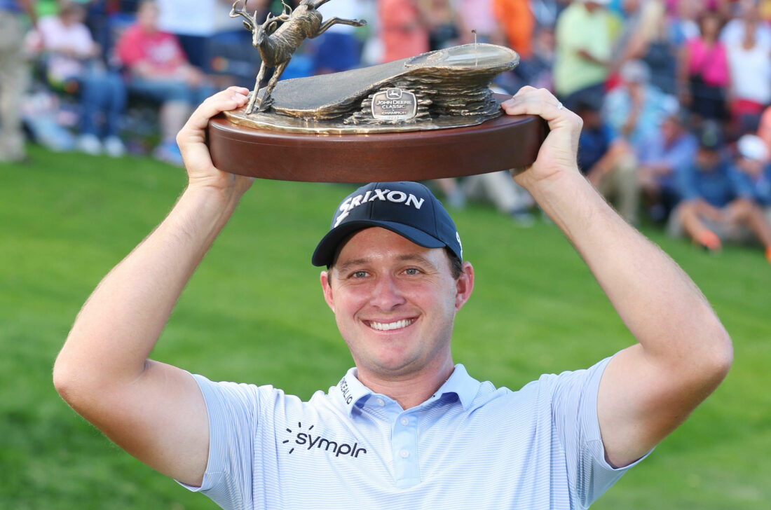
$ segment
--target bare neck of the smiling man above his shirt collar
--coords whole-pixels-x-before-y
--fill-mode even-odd
[[[453,359],[448,356],[438,366],[425,367],[415,374],[397,377],[376,374],[357,367],[357,378],[375,393],[394,399],[402,409],[409,409],[431,398],[454,370]]]

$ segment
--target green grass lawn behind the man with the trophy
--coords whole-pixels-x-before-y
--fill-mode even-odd
[[[182,170],[32,148],[31,163],[0,165],[0,177],[0,508],[214,508],[111,445],[51,383],[79,307],[167,213]],[[351,189],[255,183],[153,357],[302,398],[335,384],[352,361],[310,254]],[[453,216],[477,278],[456,320],[454,357],[475,377],[519,388],[633,341],[554,226],[518,229],[484,207]],[[759,250],[728,247],[713,257],[646,233],[712,302],[736,361],[692,418],[593,508],[768,508],[771,267]]]

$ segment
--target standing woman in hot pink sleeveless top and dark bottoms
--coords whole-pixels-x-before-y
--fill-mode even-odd
[[[701,119],[726,119],[729,86],[726,47],[718,39],[720,17],[704,12],[699,17],[699,36],[685,43],[680,55],[681,102]]]

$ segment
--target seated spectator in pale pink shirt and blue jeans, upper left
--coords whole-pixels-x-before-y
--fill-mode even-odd
[[[78,149],[120,157],[126,152],[120,139],[126,87],[120,75],[104,69],[99,45],[83,24],[85,17],[85,7],[65,0],[59,4],[58,15],[40,18],[38,34],[46,53],[46,74],[54,87],[65,92],[74,84],[80,111]]]

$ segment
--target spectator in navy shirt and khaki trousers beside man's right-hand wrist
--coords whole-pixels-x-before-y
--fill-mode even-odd
[[[637,221],[637,162],[629,144],[614,135],[604,122],[601,96],[585,93],[577,99],[575,112],[584,126],[578,139],[578,168],[606,198],[614,200],[626,220]]]

